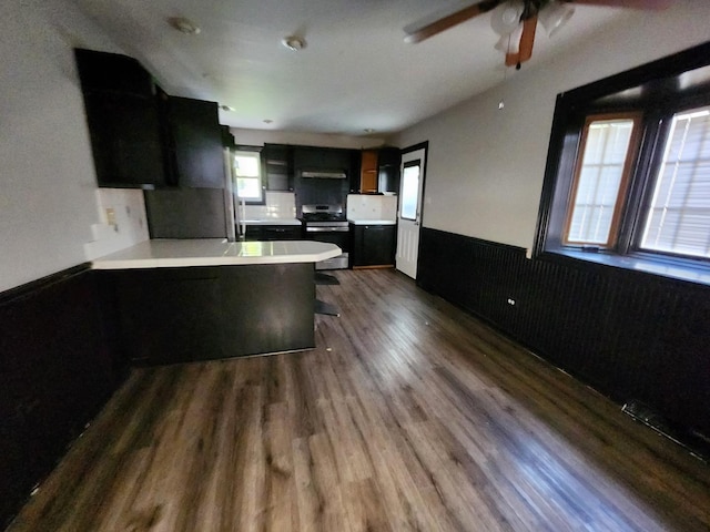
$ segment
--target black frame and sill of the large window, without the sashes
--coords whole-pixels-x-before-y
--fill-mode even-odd
[[[582,259],[710,284],[709,259],[640,247],[670,119],[683,110],[710,104],[707,75],[700,85],[683,84],[683,74],[697,69],[703,69],[702,74],[710,70],[710,43],[557,95],[532,250],[536,258]],[[639,147],[628,176],[628,193],[620,203],[616,242],[606,248],[566,243],[568,205],[574,198],[587,116],[639,111],[643,113]]]

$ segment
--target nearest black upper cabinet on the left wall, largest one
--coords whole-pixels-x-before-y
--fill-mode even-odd
[[[125,55],[74,52],[99,186],[164,185],[161,124],[150,73]]]

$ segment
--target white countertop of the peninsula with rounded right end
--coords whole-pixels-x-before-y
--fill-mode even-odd
[[[337,257],[335,244],[312,241],[154,239],[93,260],[94,269],[317,263]]]

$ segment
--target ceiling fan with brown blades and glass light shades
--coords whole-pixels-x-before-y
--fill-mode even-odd
[[[506,53],[506,66],[532,57],[538,21],[551,37],[574,13],[571,4],[631,9],[666,9],[673,0],[483,0],[418,27],[407,27],[406,42],[420,42],[479,14],[493,13],[491,27],[500,35],[496,49]]]

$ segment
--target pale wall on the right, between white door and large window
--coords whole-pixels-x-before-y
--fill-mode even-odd
[[[710,40],[710,1],[677,3],[635,11],[547,64],[534,57],[504,85],[396,135],[400,147],[429,141],[423,225],[531,248],[556,95]]]

